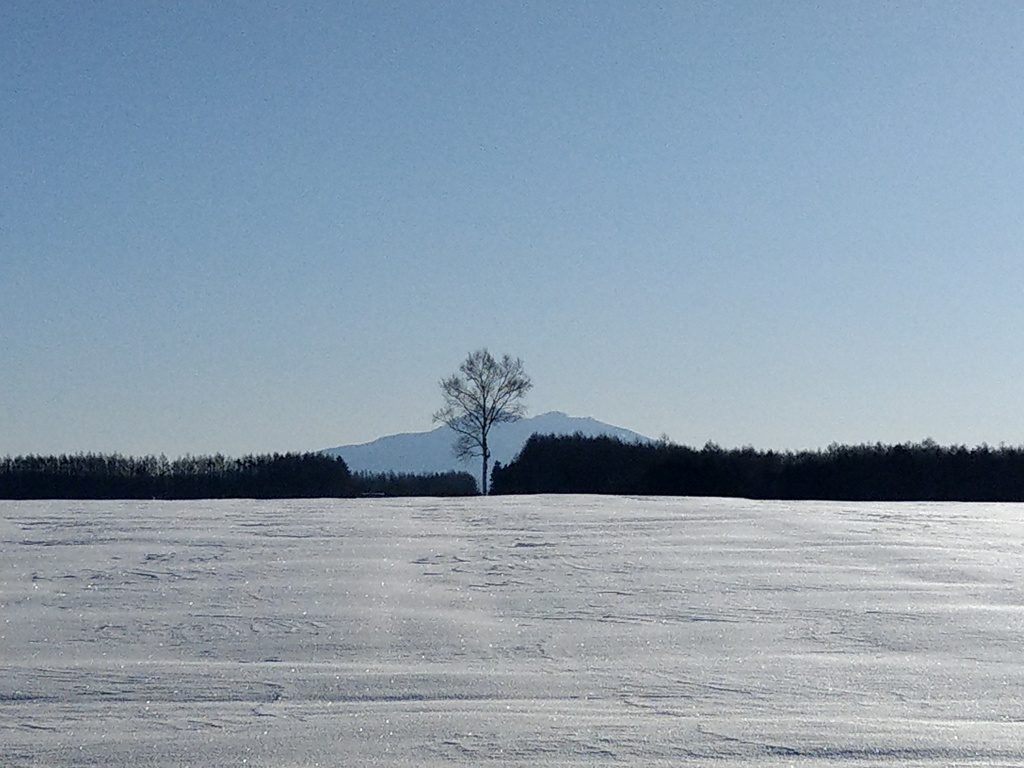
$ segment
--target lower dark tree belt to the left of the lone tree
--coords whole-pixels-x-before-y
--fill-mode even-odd
[[[470,496],[466,472],[349,472],[340,457],[315,453],[232,459],[119,454],[0,459],[0,499],[308,499],[356,496]]]

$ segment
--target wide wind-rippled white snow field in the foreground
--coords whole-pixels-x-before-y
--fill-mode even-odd
[[[0,502],[0,765],[1024,765],[1024,506]]]

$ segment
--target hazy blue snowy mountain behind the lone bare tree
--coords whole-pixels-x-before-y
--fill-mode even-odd
[[[588,437],[611,435],[627,442],[649,441],[649,437],[623,427],[588,417],[566,416],[551,411],[510,424],[497,424],[490,430],[490,464],[496,461],[508,464],[515,458],[531,434],[575,434]],[[429,432],[406,432],[380,437],[372,442],[356,445],[338,445],[321,453],[340,456],[353,472],[470,472],[480,473],[480,460],[460,462],[452,455],[455,432],[449,427],[437,427]]]

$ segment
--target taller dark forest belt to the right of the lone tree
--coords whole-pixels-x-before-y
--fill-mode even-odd
[[[496,465],[492,493],[1020,502],[1024,449],[925,440],[792,453],[534,435],[515,460]]]

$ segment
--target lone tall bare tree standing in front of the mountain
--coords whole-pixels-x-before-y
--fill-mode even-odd
[[[496,360],[486,349],[469,354],[459,373],[441,379],[444,408],[434,421],[446,424],[458,435],[453,446],[456,458],[482,459],[480,490],[487,495],[487,435],[495,424],[518,421],[526,413],[522,397],[534,386],[522,360],[505,355]]]

